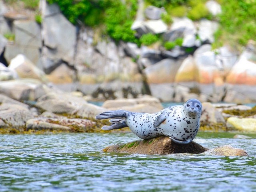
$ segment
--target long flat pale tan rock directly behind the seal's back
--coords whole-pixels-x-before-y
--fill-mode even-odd
[[[123,109],[131,112],[156,113],[163,109],[157,98],[107,100],[102,105],[107,110]]]

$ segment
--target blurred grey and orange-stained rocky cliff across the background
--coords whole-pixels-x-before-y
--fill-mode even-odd
[[[168,26],[161,19],[163,9],[144,9],[143,1],[138,6],[132,25],[137,36],[156,34],[166,42],[182,38],[181,44],[167,49],[157,43],[117,43],[99,38],[97,28],[74,26],[46,0],[40,1],[40,24],[33,13],[0,0],[0,80],[32,78],[102,100],[152,94],[163,102],[255,102],[255,42],[241,53],[228,45],[212,50],[217,21],[182,17]],[[215,1],[206,7],[213,15],[221,12]]]

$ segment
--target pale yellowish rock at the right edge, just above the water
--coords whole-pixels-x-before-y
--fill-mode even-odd
[[[228,128],[235,130],[255,132],[256,131],[256,119],[255,118],[237,118],[230,117],[227,119],[226,125]]]

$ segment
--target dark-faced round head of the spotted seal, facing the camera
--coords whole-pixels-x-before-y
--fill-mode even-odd
[[[185,112],[191,117],[200,117],[202,113],[202,104],[197,99],[190,99],[183,104]]]

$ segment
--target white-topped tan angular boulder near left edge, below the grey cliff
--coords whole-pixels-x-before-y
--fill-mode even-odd
[[[37,68],[23,54],[18,54],[13,58],[8,68],[15,70],[20,78],[32,78],[41,80],[42,82],[47,82],[45,73]]]

